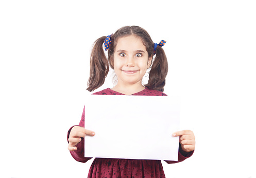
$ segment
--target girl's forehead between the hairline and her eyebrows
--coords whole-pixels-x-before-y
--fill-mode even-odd
[[[146,50],[146,46],[144,46],[140,37],[129,35],[117,40],[115,51],[117,50]]]

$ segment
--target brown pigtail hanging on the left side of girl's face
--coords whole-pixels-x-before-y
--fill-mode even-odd
[[[87,83],[89,92],[104,84],[109,72],[108,59],[103,50],[103,43],[107,37],[101,37],[94,42],[90,59],[90,77]]]

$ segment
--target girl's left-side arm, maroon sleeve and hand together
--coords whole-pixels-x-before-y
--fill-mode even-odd
[[[86,163],[91,157],[84,157],[84,136],[95,135],[94,132],[84,129],[84,108],[81,121],[78,126],[73,126],[67,132],[68,149],[72,157],[82,163]]]

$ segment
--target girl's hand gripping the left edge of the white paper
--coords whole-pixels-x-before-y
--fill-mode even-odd
[[[73,127],[70,131],[69,146],[67,149],[70,151],[77,150],[75,146],[82,140],[81,138],[84,138],[86,135],[94,136],[95,133],[80,126]]]

